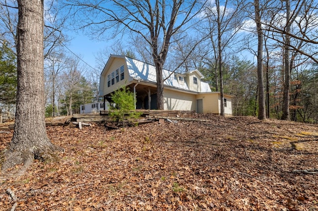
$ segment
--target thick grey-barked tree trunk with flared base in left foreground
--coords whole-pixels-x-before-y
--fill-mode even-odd
[[[51,158],[58,148],[47,137],[43,66],[43,0],[18,0],[17,100],[14,132],[2,170]]]

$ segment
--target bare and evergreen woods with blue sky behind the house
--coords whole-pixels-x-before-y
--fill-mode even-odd
[[[266,117],[318,122],[317,1],[180,0],[166,1],[164,5],[158,2],[45,2],[47,116],[70,115],[79,112],[80,104],[98,101],[99,75],[109,53],[152,64],[161,59],[160,65],[175,72],[199,69],[213,91],[236,96],[234,115],[259,116],[262,86],[257,80],[257,55],[262,53],[260,70]],[[17,12],[16,1],[1,0],[0,106],[10,112],[14,112],[16,94],[16,68],[12,67],[16,67]],[[171,20],[175,20],[172,26]],[[157,37],[149,30],[156,23],[161,24]],[[96,66],[91,67],[69,50],[70,30],[82,30],[93,39],[116,44],[96,52]],[[163,31],[171,37],[167,39]],[[167,45],[163,45],[165,42]],[[286,106],[288,118],[284,117]]]

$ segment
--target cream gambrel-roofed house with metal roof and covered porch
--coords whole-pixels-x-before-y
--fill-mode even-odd
[[[194,110],[198,113],[220,114],[220,92],[211,92],[201,80],[198,70],[174,73],[163,70],[164,110]],[[111,55],[101,72],[99,93],[104,102],[111,93],[128,86],[135,94],[137,109],[157,109],[157,79],[154,65],[124,56]],[[224,95],[225,114],[232,115],[232,95]],[[104,104],[105,105],[105,104]]]

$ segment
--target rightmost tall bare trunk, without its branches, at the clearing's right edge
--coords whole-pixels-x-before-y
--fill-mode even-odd
[[[286,34],[285,34],[285,47],[284,47],[284,65],[285,65],[285,82],[284,82],[284,94],[283,94],[283,106],[282,106],[282,120],[290,120],[289,113],[289,101],[290,101],[290,60],[289,60],[289,46],[290,46],[290,1],[286,0]]]

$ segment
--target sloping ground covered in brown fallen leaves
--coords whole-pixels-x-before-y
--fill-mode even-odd
[[[318,125],[198,118],[208,121],[47,127],[65,153],[0,181],[0,210],[318,210],[318,174],[297,171],[317,172]],[[0,150],[11,137],[0,133]]]

